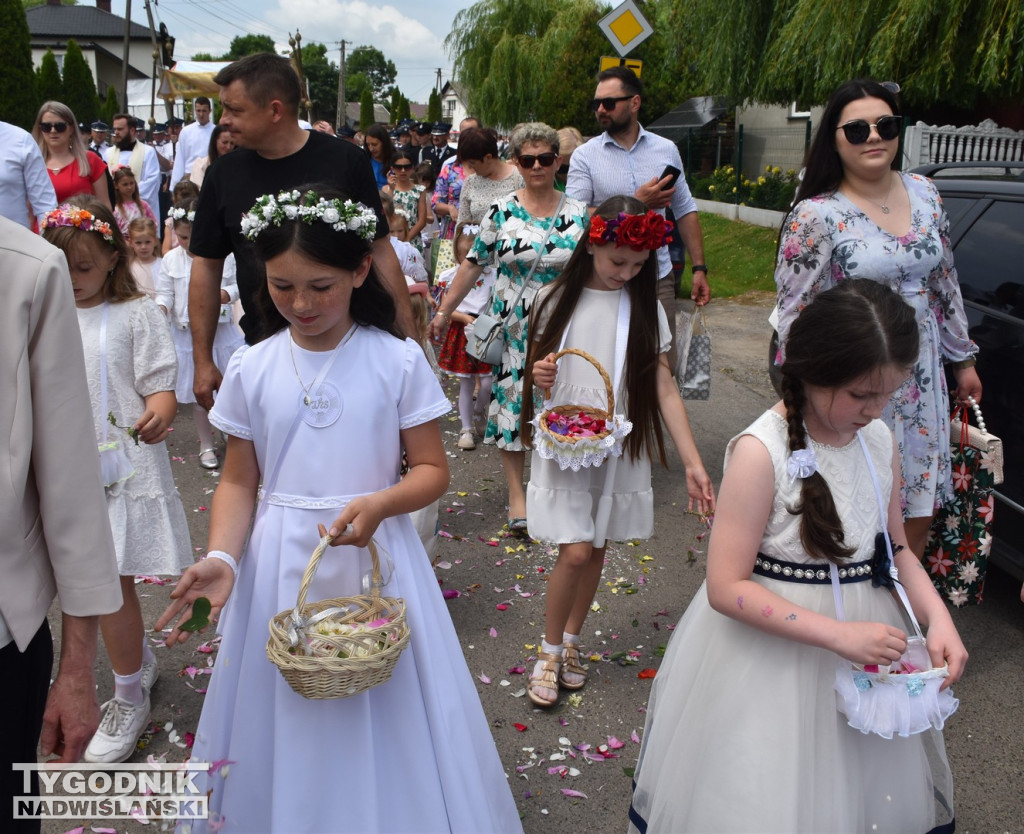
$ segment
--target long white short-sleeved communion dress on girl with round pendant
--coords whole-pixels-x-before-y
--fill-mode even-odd
[[[352,499],[395,485],[399,431],[451,410],[411,339],[358,328],[327,375],[341,413],[316,428],[295,420],[304,397],[287,331],[238,351],[210,414],[252,441],[270,494],[256,512],[220,619],[216,667],[193,761],[229,760],[202,790],[222,832],[521,831],[472,676],[437,579],[408,515],[375,539],[394,564],[385,596],[406,601],[412,639],[390,680],[338,700],[296,694],[266,657],[267,623],[296,602],[318,541]],[[293,346],[299,375],[315,378],[330,352]],[[313,391],[315,393],[315,391]],[[294,436],[276,475],[268,471]],[[369,551],[325,554],[308,601],[362,593]],[[199,824],[194,832],[215,830]]]

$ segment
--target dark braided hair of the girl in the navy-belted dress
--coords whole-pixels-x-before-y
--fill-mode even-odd
[[[876,281],[844,281],[817,295],[790,329],[782,366],[788,449],[807,447],[805,385],[838,388],[893,365],[909,369],[919,351],[913,308]],[[831,491],[820,472],[801,482],[800,541],[815,558],[840,561],[853,554]]]

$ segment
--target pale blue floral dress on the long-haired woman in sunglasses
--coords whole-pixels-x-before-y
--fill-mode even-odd
[[[949,395],[943,362],[977,352],[968,337],[964,299],[949,244],[949,220],[931,180],[900,174],[910,198],[910,226],[896,237],[880,228],[839,192],[801,201],[790,212],[775,265],[778,335],[785,340],[814,296],[846,279],[878,281],[916,312],[921,353],[910,377],[882,415],[903,463],[904,517],[931,515],[952,495]]]

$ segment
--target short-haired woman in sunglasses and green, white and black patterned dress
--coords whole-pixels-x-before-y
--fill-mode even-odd
[[[495,368],[483,442],[497,445],[501,451],[509,491],[509,530],[524,535],[526,453],[519,439],[519,413],[528,343],[526,319],[537,291],[561,274],[583,236],[587,206],[555,190],[559,157],[558,134],[553,128],[527,122],[513,131],[509,143],[524,185],[487,210],[476,243],[430,323],[430,335],[435,341],[443,338],[452,314],[484,267],[497,266],[489,311],[504,320],[505,350],[502,364]]]

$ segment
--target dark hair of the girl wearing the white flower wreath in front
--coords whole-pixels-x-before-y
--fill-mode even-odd
[[[301,198],[303,205],[315,203],[319,198],[349,199],[327,183],[300,185],[298,191],[303,195]],[[312,198],[308,196],[310,192],[313,194]],[[335,232],[331,225],[322,220],[307,223],[296,219],[284,220],[280,225],[271,224],[263,230],[257,236],[254,248],[256,256],[264,264],[270,258],[295,250],[325,266],[356,269],[373,250],[373,243],[364,240],[354,232]],[[256,291],[256,306],[263,320],[260,330],[261,340],[288,327],[287,320],[270,298],[265,275]],[[356,324],[376,327],[396,338],[402,338],[395,326],[394,299],[372,263],[362,286],[352,290],[348,311]]]

